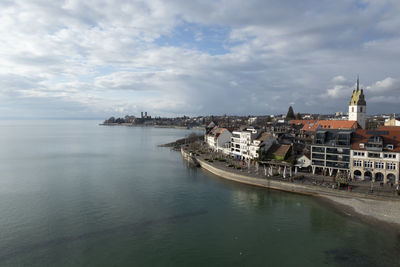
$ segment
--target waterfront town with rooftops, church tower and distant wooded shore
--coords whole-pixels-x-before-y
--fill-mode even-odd
[[[295,114],[289,107],[286,116],[163,119],[142,112],[140,118],[111,117],[104,124],[204,127],[206,147],[202,150],[212,157],[234,160],[231,165],[237,169],[268,166],[266,176],[286,178],[304,173],[330,178],[338,187],[359,182],[370,193],[377,189],[400,192],[399,118],[395,114],[368,117],[366,96],[358,79],[349,95],[347,116],[343,112]]]

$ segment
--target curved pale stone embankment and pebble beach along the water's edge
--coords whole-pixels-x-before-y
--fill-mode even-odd
[[[253,186],[320,197],[325,203],[334,205],[335,210],[347,216],[363,222],[379,224],[384,226],[383,228],[400,232],[400,200],[395,197],[385,198],[286,181],[255,178],[245,173],[236,173],[218,168],[215,164],[206,162],[201,158],[194,158],[184,149],[181,149],[181,153],[185,160],[194,161],[198,166],[221,178]]]

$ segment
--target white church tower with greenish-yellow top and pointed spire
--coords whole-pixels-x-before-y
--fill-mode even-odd
[[[365,102],[363,89],[360,89],[360,80],[357,77],[357,89],[353,90],[349,105],[349,121],[357,121],[361,128],[365,129],[366,112],[367,103]]]

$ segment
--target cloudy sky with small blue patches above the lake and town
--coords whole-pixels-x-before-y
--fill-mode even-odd
[[[400,113],[398,0],[1,0],[0,118]]]

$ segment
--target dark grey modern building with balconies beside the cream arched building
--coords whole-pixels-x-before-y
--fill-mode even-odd
[[[324,175],[350,171],[352,130],[317,130],[311,145],[311,167]]]

